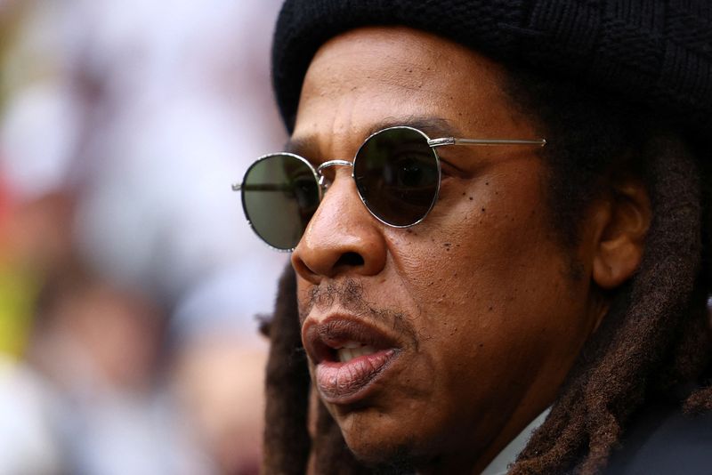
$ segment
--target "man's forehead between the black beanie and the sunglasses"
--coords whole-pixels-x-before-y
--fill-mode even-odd
[[[349,42],[362,47],[354,51]],[[435,49],[436,63],[423,60],[421,52],[430,58]],[[322,46],[312,60],[287,149],[312,157],[320,151],[348,155],[371,133],[394,125],[431,138],[532,135],[513,127],[505,74],[481,54],[429,33],[353,30]]]

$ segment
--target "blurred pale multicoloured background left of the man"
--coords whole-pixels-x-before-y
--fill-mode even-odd
[[[256,473],[279,0],[0,0],[0,475]]]

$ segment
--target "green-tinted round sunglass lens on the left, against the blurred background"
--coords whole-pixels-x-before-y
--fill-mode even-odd
[[[312,166],[295,155],[256,161],[242,181],[242,207],[257,235],[277,249],[294,249],[319,206]]]

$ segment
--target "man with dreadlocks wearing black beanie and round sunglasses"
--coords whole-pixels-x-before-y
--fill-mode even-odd
[[[708,470],[680,407],[712,408],[710,26],[702,0],[287,0],[289,151],[239,187],[293,251],[264,471],[492,472],[539,415],[514,473]]]

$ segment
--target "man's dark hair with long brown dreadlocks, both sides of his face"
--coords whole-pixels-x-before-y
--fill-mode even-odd
[[[526,71],[509,76],[505,90],[513,103],[538,117],[545,136],[555,138],[543,159],[550,219],[562,246],[576,245],[581,217],[593,200],[611,192],[611,178],[640,178],[651,197],[653,220],[639,270],[608,295],[608,315],[571,368],[546,422],[511,467],[516,474],[596,473],[644,401],[675,398],[688,413],[712,409],[705,379],[712,348],[712,173],[696,159],[703,149],[694,138],[643,107],[602,100]],[[313,438],[307,431],[310,387],[289,269],[270,337],[263,471],[303,473],[311,454],[318,473],[370,472],[354,460],[321,404],[311,415]],[[681,399],[677,390],[689,382],[695,389]]]

